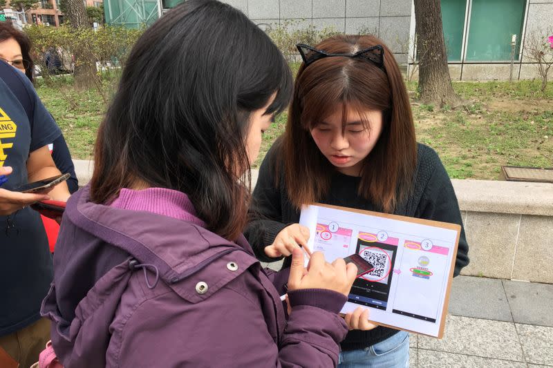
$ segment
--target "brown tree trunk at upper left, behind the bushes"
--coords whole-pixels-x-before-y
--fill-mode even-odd
[[[78,33],[79,28],[88,27],[88,17],[86,16],[86,9],[84,8],[84,1],[82,0],[66,0],[67,14],[66,16],[71,23],[71,28],[74,28]],[[75,42],[75,87],[87,89],[91,88],[94,84],[94,77],[96,73],[95,62],[86,47],[86,42]]]

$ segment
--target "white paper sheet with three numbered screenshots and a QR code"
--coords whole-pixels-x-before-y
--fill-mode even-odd
[[[355,280],[342,313],[362,305],[373,322],[438,337],[459,230],[316,205],[299,223],[328,262],[358,253],[375,267]]]

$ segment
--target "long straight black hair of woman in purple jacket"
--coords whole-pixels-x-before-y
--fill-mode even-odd
[[[189,196],[207,228],[234,240],[247,223],[250,113],[288,106],[292,75],[269,37],[240,11],[185,1],[133,47],[98,131],[91,200],[137,182]]]

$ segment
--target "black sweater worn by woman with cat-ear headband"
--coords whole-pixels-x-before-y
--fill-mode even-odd
[[[284,176],[281,175],[278,187],[274,185],[275,165],[281,165],[278,157],[279,144],[275,144],[263,159],[259,170],[259,179],[252,198],[252,221],[245,231],[257,258],[263,262],[274,262],[278,258],[268,258],[265,246],[272,244],[277,234],[299,221],[299,211],[294,209],[285,192]],[[359,177],[341,173],[332,174],[332,184],[326,197],[319,202],[368,211],[377,211],[375,205],[357,195]],[[418,144],[417,167],[411,196],[394,211],[397,215],[418,217],[427,220],[451,222],[461,225],[458,253],[453,275],[469,264],[469,246],[462,227],[461,213],[451,180],[445,171],[438,154],[432,148]],[[290,258],[284,262],[289,267]],[[397,333],[395,329],[377,327],[370,331],[353,330],[341,343],[344,351],[363,349],[376,344]]]

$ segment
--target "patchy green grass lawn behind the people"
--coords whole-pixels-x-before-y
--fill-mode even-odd
[[[413,101],[418,142],[440,154],[451,177],[497,179],[501,165],[553,166],[553,84],[545,93],[538,81],[455,82],[469,103],[438,108]],[[412,95],[417,84],[408,83]],[[95,90],[76,93],[71,81],[41,85],[39,95],[62,128],[74,158],[88,159],[105,105]],[[284,130],[282,114],[263,137],[261,157]]]

